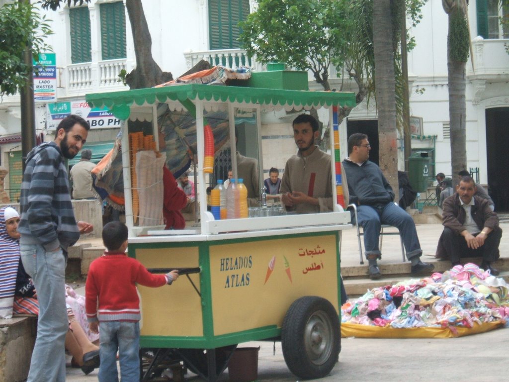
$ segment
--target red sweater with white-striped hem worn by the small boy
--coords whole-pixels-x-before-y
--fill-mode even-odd
[[[139,321],[136,283],[160,287],[171,283],[166,275],[153,275],[125,253],[104,252],[92,261],[85,284],[85,308],[89,322]]]

